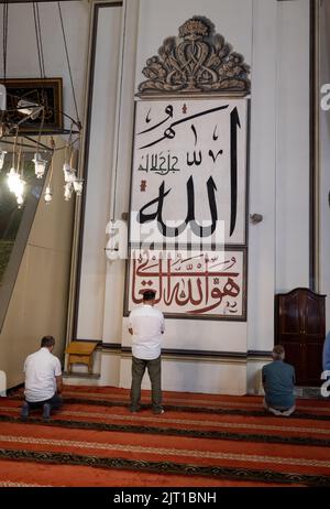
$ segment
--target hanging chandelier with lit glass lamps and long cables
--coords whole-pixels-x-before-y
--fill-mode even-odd
[[[34,165],[36,178],[45,178],[47,182],[44,185],[44,201],[50,204],[53,199],[53,159],[56,151],[64,151],[63,164],[63,195],[65,201],[69,201],[75,194],[80,196],[82,193],[82,178],[78,175],[78,158],[77,145],[80,140],[81,123],[78,116],[77,101],[72,76],[72,67],[67,50],[67,40],[64,29],[64,20],[62,14],[61,2],[57,3],[58,21],[62,28],[64,50],[66,63],[70,78],[72,95],[75,105],[76,118],[68,116],[59,108],[59,105],[52,106],[47,101],[43,83],[47,82],[45,76],[43,40],[41,31],[41,20],[37,2],[31,2],[31,15],[33,17],[35,26],[35,39],[37,47],[37,57],[40,66],[41,84],[37,100],[30,98],[29,95],[20,95],[20,88],[14,95],[9,91],[7,78],[7,41],[8,41],[8,20],[10,17],[9,3],[2,4],[2,24],[3,24],[3,78],[0,78],[0,172],[4,164],[9,167],[7,173],[7,183],[11,193],[14,194],[18,207],[21,208],[25,198],[25,178],[24,165],[26,164],[26,149],[30,154],[31,163]],[[69,124],[69,129],[46,128],[46,115],[53,111],[56,118],[65,118]],[[29,126],[29,129],[26,129]],[[35,127],[34,127],[35,126]],[[61,134],[64,138],[64,143],[55,142],[55,136]],[[8,147],[12,147],[9,153]],[[8,149],[8,150],[7,150]],[[33,154],[33,155],[31,155]]]

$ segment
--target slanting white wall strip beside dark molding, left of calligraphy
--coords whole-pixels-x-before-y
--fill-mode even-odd
[[[90,134],[87,140],[88,178],[77,326],[79,339],[101,339],[103,336],[106,225],[110,218],[121,15],[121,7],[99,9],[94,88],[88,119]]]

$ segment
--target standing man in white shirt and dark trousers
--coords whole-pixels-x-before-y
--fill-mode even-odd
[[[143,305],[130,314],[129,332],[132,343],[132,386],[131,412],[140,410],[141,382],[147,368],[152,386],[152,404],[154,414],[164,413],[162,407],[161,381],[161,344],[165,331],[164,316],[154,307],[155,292],[147,290],[143,294]]]

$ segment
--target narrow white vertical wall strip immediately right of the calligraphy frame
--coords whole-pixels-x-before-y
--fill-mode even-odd
[[[267,350],[274,337],[277,2],[253,1],[248,349]]]

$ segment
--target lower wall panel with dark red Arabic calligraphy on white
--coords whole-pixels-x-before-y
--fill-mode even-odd
[[[226,252],[172,253],[132,250],[129,261],[128,312],[142,303],[146,290],[169,316],[187,318],[246,318],[246,259],[244,248]]]

